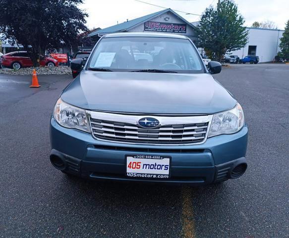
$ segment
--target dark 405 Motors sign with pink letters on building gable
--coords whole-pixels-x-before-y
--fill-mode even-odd
[[[145,31],[160,31],[160,32],[174,32],[186,33],[186,24],[147,21],[144,23]]]

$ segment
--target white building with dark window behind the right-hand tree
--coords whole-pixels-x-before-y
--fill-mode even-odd
[[[249,35],[246,46],[229,54],[236,55],[240,59],[245,56],[258,56],[259,62],[273,61],[280,52],[280,38],[285,31],[251,27],[247,27],[247,30]]]

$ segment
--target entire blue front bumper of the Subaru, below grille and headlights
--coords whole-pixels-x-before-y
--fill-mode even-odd
[[[96,140],[91,134],[60,126],[51,119],[52,154],[61,157],[65,172],[90,179],[208,184],[231,178],[246,165],[247,126],[231,135],[208,138],[199,145],[150,146]],[[171,156],[170,179],[125,176],[125,155]]]

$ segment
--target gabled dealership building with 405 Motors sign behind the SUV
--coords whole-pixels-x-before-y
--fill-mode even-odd
[[[93,31],[88,36],[100,37],[117,32],[163,32],[185,35],[194,41],[196,39],[195,30],[195,26],[168,8],[98,31]]]

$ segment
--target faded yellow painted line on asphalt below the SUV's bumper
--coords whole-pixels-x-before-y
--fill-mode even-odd
[[[195,238],[195,224],[193,220],[193,203],[191,189],[189,187],[182,187],[181,194],[183,238]]]

